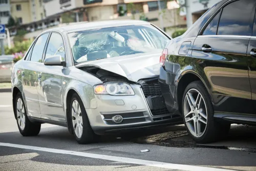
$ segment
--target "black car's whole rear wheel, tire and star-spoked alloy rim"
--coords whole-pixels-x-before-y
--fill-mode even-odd
[[[188,134],[197,143],[224,138],[230,128],[229,123],[215,121],[210,96],[201,81],[191,82],[186,87],[182,98],[182,117]]]

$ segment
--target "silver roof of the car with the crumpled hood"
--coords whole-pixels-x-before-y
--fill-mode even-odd
[[[69,26],[63,26],[58,28],[53,28],[46,30],[47,31],[67,31],[68,33],[76,32],[76,31],[83,31],[83,30],[91,30],[91,29],[100,29],[106,27],[117,27],[117,26],[129,26],[129,25],[145,25],[150,23],[142,21],[142,20],[106,20],[106,21],[99,21],[99,22],[81,22]]]

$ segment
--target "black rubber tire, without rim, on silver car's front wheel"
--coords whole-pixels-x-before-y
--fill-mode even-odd
[[[82,115],[82,135],[80,138],[78,138],[75,134],[75,130],[74,130],[74,126],[73,126],[73,122],[72,122],[72,104],[74,102],[74,100],[78,101],[78,104],[80,106],[81,109],[81,115]],[[82,100],[80,99],[80,97],[77,94],[74,94],[71,98],[70,101],[70,119],[71,119],[71,126],[72,126],[72,132],[76,138],[76,141],[79,144],[89,144],[89,143],[93,143],[95,142],[95,140],[97,139],[96,134],[94,133],[94,131],[92,130],[91,124],[89,122],[87,113],[86,113],[86,109],[84,109]]]

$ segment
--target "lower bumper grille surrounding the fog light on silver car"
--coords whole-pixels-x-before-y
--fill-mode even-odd
[[[123,118],[121,123],[116,123],[112,120],[112,117],[120,115]],[[102,114],[104,117],[103,120],[106,124],[114,125],[114,124],[129,124],[129,123],[138,123],[138,122],[145,122],[146,117],[144,116],[143,112],[134,112],[134,113],[124,113],[124,114]]]

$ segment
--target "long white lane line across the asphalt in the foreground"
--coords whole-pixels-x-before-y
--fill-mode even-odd
[[[83,152],[67,151],[67,150],[63,150],[63,149],[45,148],[45,147],[11,144],[11,143],[3,143],[3,142],[0,142],[0,146],[31,149],[31,150],[35,150],[35,151],[41,151],[41,152],[81,156],[81,157],[88,157],[88,158],[94,158],[94,159],[110,160],[110,161],[116,161],[116,162],[132,163],[132,164],[147,165],[147,166],[169,168],[169,169],[180,169],[180,170],[189,170],[189,171],[201,171],[201,170],[202,171],[204,171],[204,170],[207,170],[207,171],[224,171],[224,170],[231,171],[230,169],[202,167],[202,166],[185,165],[185,164],[164,163],[164,162],[158,162],[158,161],[141,160],[141,159],[116,157],[116,156],[107,156],[107,155],[99,155],[99,154],[93,154],[93,153],[83,153]]]

